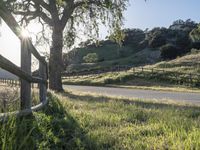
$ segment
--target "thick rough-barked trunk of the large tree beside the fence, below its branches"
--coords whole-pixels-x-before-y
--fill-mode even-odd
[[[57,92],[63,91],[61,79],[63,71],[62,48],[63,31],[59,27],[54,27],[49,60],[49,88]]]

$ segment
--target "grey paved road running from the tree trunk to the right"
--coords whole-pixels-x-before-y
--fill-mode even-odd
[[[200,93],[184,93],[184,92],[166,92],[153,90],[138,90],[112,87],[94,87],[94,86],[77,86],[64,85],[65,89],[77,90],[80,92],[91,92],[102,94],[105,96],[122,96],[127,98],[139,99],[157,99],[157,100],[175,100],[179,102],[189,102],[200,104]]]

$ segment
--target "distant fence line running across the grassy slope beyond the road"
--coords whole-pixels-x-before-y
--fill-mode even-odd
[[[80,77],[80,76],[94,76],[107,72],[129,72],[129,77],[141,77],[149,79],[159,79],[177,84],[187,84],[190,86],[200,87],[200,74],[173,72],[167,69],[159,68],[145,68],[133,66],[115,66],[106,68],[104,70],[84,70],[81,72],[68,72],[63,73],[63,77]]]

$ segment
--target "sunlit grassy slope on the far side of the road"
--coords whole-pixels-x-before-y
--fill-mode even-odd
[[[144,66],[145,69],[154,68],[152,75],[151,70],[148,72],[140,71],[133,72],[132,69],[120,72],[108,72],[99,75],[89,75],[81,77],[64,78],[64,84],[79,84],[79,85],[110,85],[114,84],[143,89],[158,89],[158,90],[182,90],[185,91],[188,87],[199,85],[194,81],[193,85],[184,83],[181,79],[176,80],[175,75],[178,73],[199,74],[200,73],[200,53],[190,54],[172,61],[163,61],[154,65]],[[156,72],[155,70],[165,70],[165,72]],[[173,74],[169,76],[168,72]],[[182,76],[184,77],[184,76]],[[187,78],[186,78],[187,79]],[[188,80],[188,79],[187,79]],[[191,90],[195,90],[192,88]]]

